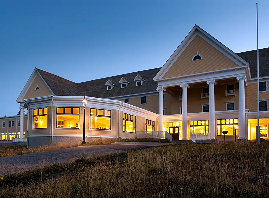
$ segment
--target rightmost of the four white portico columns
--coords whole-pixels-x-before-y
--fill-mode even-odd
[[[238,139],[246,139],[245,135],[245,80],[246,76],[238,76]]]

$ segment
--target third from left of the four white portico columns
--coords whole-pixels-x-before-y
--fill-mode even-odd
[[[206,81],[209,85],[209,133],[211,139],[215,138],[215,91],[214,85],[216,84],[215,80]]]

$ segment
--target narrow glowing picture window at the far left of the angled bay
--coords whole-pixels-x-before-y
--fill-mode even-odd
[[[33,129],[47,128],[48,108],[33,109]]]

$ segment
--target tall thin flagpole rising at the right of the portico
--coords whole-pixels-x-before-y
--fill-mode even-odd
[[[256,128],[256,143],[260,144],[260,97],[259,97],[259,44],[258,44],[258,3],[256,3],[257,13],[257,128]]]

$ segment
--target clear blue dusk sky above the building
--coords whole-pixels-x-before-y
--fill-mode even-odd
[[[269,1],[258,1],[269,47]],[[256,1],[1,1],[0,117],[35,67],[74,82],[162,67],[195,25],[234,52],[256,49]]]

